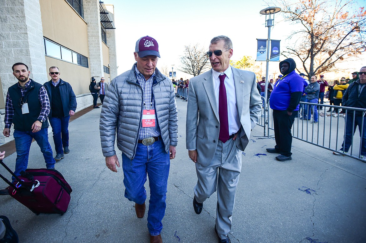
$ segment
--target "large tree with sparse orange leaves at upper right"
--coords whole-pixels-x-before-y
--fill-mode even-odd
[[[336,62],[355,58],[366,48],[366,11],[355,0],[283,1],[285,20],[298,23],[285,57],[298,57],[308,77],[332,71]],[[299,71],[299,69],[298,69]]]

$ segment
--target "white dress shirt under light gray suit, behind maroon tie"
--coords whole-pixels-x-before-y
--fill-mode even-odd
[[[226,69],[223,73],[226,74],[224,83],[226,89],[226,97],[228,100],[229,135],[231,135],[238,132],[241,124],[238,113],[238,106],[236,105],[234,77],[231,67],[229,66],[228,69]],[[212,69],[213,88],[216,96],[217,107],[219,107],[220,74],[220,72],[216,72]]]

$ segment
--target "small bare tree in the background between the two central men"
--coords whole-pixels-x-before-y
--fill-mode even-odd
[[[184,54],[180,58],[182,66],[178,68],[179,71],[197,76],[210,67],[206,50],[198,43],[193,46],[184,46],[184,48]]]

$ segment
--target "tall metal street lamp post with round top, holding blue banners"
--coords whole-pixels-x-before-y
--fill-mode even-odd
[[[266,27],[268,27],[268,38],[267,38],[267,59],[266,59],[266,81],[265,81],[265,90],[264,90],[264,136],[266,136],[266,111],[268,111],[267,107],[267,91],[268,91],[268,67],[269,67],[269,44],[270,44],[270,36],[271,36],[271,27],[275,24],[275,14],[280,12],[281,8],[278,7],[268,7],[259,11],[259,14],[266,16]],[[268,130],[269,134],[269,130]]]

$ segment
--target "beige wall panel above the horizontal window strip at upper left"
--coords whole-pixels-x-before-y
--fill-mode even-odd
[[[65,0],[40,0],[43,35],[89,57],[87,24]]]

